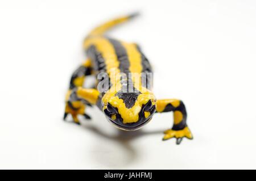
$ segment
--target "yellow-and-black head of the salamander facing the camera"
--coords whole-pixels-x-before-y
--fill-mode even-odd
[[[115,127],[125,131],[141,128],[155,113],[155,96],[151,92],[106,93],[102,99],[103,111]]]

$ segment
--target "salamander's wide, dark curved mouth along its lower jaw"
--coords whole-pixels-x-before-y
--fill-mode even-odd
[[[110,123],[113,123],[115,127],[117,127],[118,129],[122,129],[124,131],[135,131],[137,129],[142,128],[143,125],[147,124],[152,119],[152,115],[147,117],[146,120],[138,121],[137,123],[126,124],[119,124],[116,121],[110,119],[109,117],[107,117],[107,119],[110,121]]]

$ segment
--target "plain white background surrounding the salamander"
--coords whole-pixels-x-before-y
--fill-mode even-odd
[[[0,169],[256,169],[255,10],[242,0],[0,1]],[[108,35],[141,45],[156,97],[186,104],[192,141],[162,141],[172,113],[137,132],[96,107],[81,126],[62,121],[86,33],[134,11]]]

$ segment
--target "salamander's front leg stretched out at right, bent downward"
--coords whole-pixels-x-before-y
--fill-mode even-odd
[[[156,112],[174,111],[174,125],[171,129],[164,132],[163,140],[176,138],[176,144],[179,145],[183,137],[192,139],[192,133],[189,130],[186,120],[187,112],[184,103],[177,99],[162,99],[156,101]]]

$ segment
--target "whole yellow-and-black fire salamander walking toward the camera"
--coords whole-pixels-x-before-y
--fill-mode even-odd
[[[152,68],[141,48],[105,35],[110,28],[135,16],[137,14],[111,20],[94,28],[85,38],[88,59],[72,74],[65,98],[64,120],[70,114],[73,121],[80,124],[77,116],[90,119],[85,108],[96,105],[115,127],[135,131],[148,123],[154,113],[173,111],[174,125],[164,132],[163,140],[175,137],[176,144],[180,144],[183,137],[192,139],[184,103],[179,99],[156,99],[151,91]],[[89,75],[97,78],[94,89],[83,87]],[[103,86],[104,91],[100,91],[98,87],[106,77],[109,81]],[[143,78],[146,81],[142,81]]]

